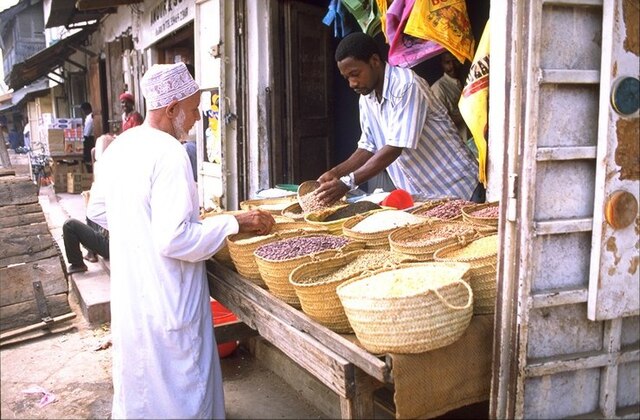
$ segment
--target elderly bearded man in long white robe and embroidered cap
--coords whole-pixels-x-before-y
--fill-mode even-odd
[[[180,143],[200,119],[200,90],[183,63],[141,80],[147,118],[101,159],[89,217],[110,232],[112,418],[224,418],[204,260],[236,232],[264,234],[262,211],[199,220]]]

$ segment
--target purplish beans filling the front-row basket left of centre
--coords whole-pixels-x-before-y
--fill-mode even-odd
[[[267,260],[283,261],[341,248],[348,242],[347,238],[334,235],[297,236],[262,245],[255,254]]]

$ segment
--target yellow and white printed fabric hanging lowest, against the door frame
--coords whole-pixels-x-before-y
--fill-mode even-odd
[[[478,44],[469,75],[458,102],[478,148],[478,181],[487,186],[487,140],[489,137],[489,21]]]

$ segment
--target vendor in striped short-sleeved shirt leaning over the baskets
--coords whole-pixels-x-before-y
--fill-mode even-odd
[[[426,80],[387,64],[361,32],[340,41],[335,59],[360,95],[362,134],[356,151],[318,178],[318,198],[332,204],[386,170],[410,194],[471,199],[478,165]]]

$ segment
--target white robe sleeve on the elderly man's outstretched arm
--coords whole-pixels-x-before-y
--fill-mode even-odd
[[[157,162],[151,182],[152,239],[163,256],[206,260],[224,245],[228,235],[238,232],[232,215],[198,220],[198,203],[191,194],[195,188],[191,163],[178,142],[174,153]]]

